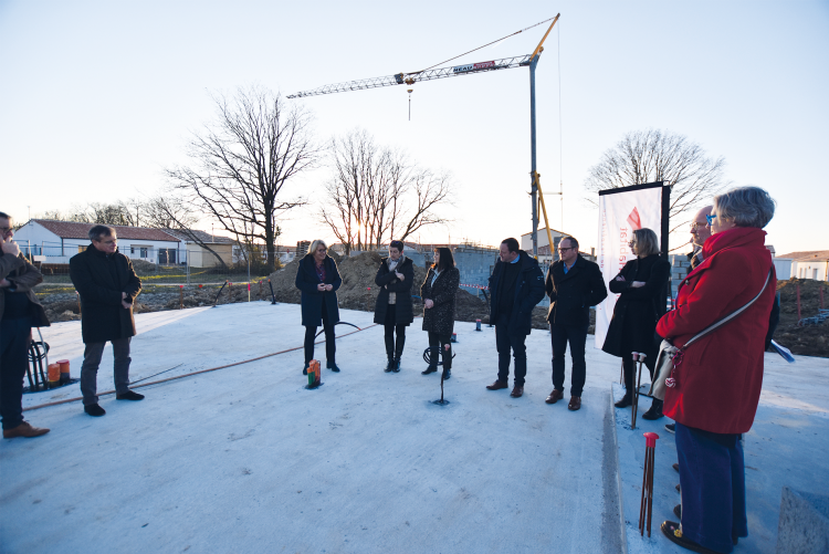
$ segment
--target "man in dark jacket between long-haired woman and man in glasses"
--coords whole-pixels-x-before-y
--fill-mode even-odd
[[[538,261],[518,248],[510,238],[501,243],[500,260],[490,276],[490,322],[495,324],[495,345],[499,352],[499,378],[490,390],[507,388],[510,351],[515,358],[515,386],[510,394],[524,394],[527,375],[527,348],[524,344],[533,328],[533,309],[544,297],[544,274]]]

